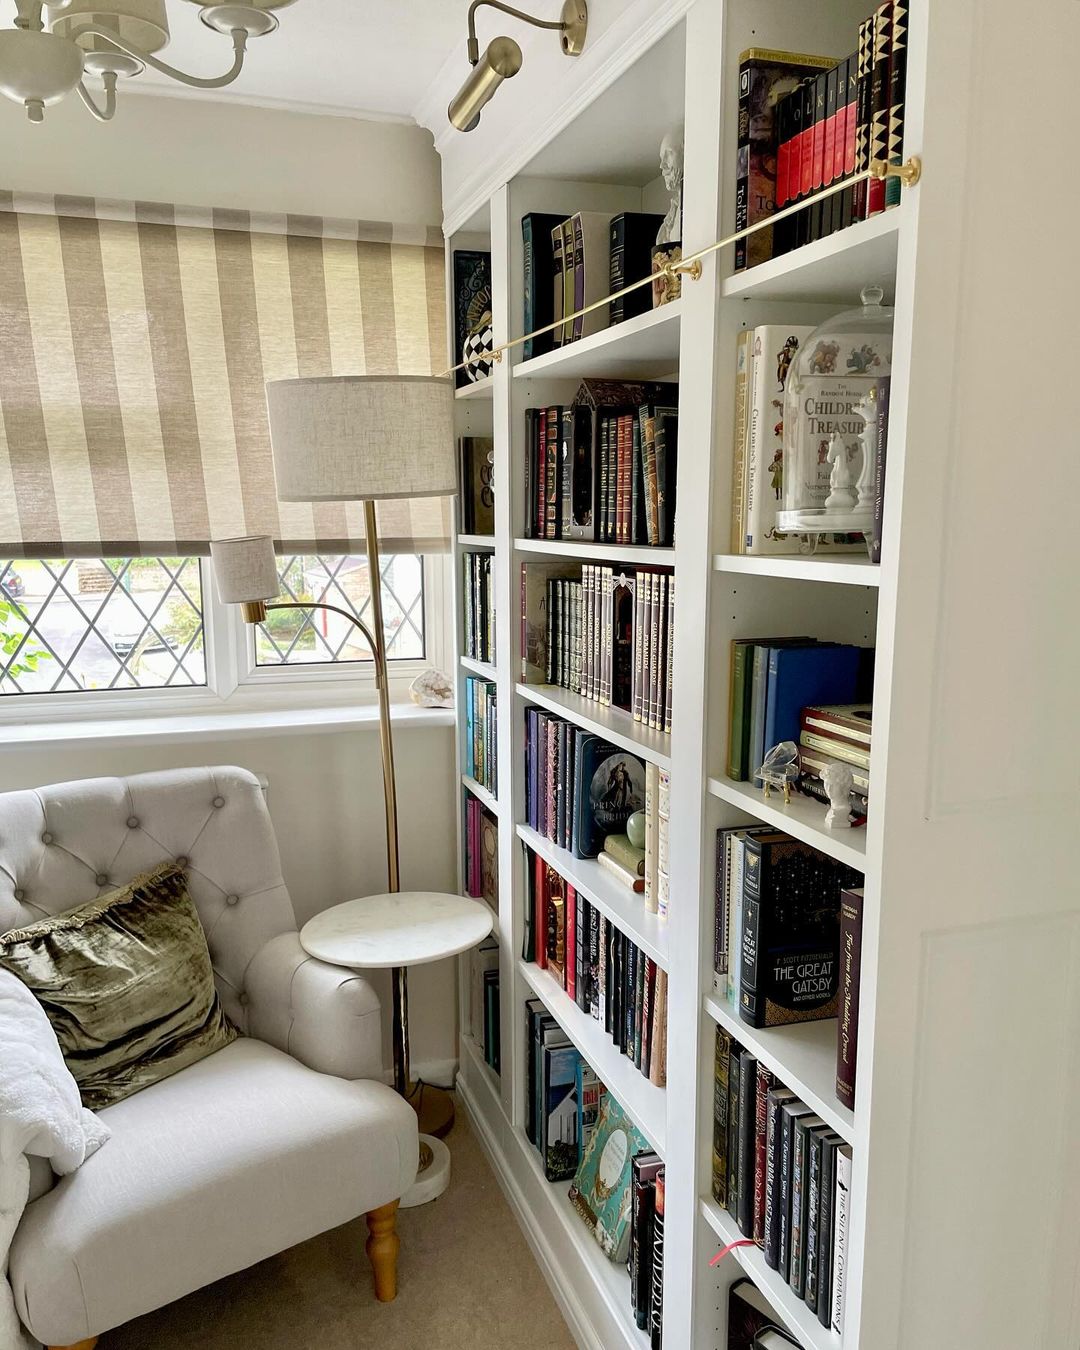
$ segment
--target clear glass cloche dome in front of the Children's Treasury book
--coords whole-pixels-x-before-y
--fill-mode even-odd
[[[892,370],[892,309],[880,286],[826,319],[795,356],[784,390],[783,495],[776,528],[869,533],[878,405]]]

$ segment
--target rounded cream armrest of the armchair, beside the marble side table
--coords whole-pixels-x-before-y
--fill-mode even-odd
[[[279,933],[244,980],[248,1034],[319,1073],[382,1081],[382,1015],[367,980],[319,961],[298,933]]]

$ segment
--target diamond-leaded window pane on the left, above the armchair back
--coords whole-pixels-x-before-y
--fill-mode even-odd
[[[0,559],[0,694],[205,683],[197,558]]]

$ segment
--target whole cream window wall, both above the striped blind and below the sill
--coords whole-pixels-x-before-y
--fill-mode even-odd
[[[439,159],[420,127],[127,90],[108,126],[77,99],[50,108],[38,127],[0,100],[0,188],[412,225],[441,220]],[[402,886],[456,890],[454,733],[402,728],[396,749]],[[7,748],[0,791],[185,764],[242,764],[270,778],[301,923],[339,900],[385,890],[375,728],[288,736],[267,729],[234,742]],[[389,977],[377,983],[389,1065]],[[456,1058],[454,964],[414,972],[410,995],[413,1061],[446,1068]]]

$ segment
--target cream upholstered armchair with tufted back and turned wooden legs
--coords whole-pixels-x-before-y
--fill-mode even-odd
[[[111,1327],[367,1215],[375,1293],[396,1292],[412,1108],[382,1081],[379,1003],[300,946],[258,779],[176,770],[0,794],[0,933],[186,860],[232,1045],[101,1112],[72,1176],[40,1160],[11,1249],[46,1346]],[[0,1046],[3,1054],[3,1046]]]

